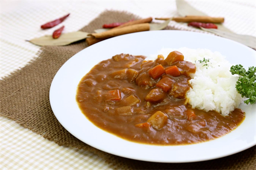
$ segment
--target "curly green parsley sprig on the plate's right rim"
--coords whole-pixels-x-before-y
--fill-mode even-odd
[[[230,72],[232,75],[236,74],[240,76],[237,81],[236,88],[242,97],[248,98],[244,103],[247,105],[249,103],[256,103],[256,67],[249,67],[248,71],[246,71],[241,64],[233,65],[230,68]]]

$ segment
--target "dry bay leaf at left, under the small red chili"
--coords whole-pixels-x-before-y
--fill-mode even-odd
[[[52,35],[46,35],[39,38],[31,39],[29,40],[29,42],[39,46],[47,46],[47,45],[62,46],[62,45],[71,44],[73,42],[76,42],[82,39],[86,39],[87,37],[90,37],[88,34],[89,33],[87,32],[76,31],[76,32],[61,34],[61,36],[57,39],[53,39]]]

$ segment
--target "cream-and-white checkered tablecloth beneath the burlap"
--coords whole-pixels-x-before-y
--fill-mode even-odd
[[[189,4],[210,16],[224,16],[224,25],[233,32],[256,36],[255,1]],[[175,2],[1,1],[1,78],[37,56],[39,46],[25,40],[51,34],[62,25],[64,32],[79,30],[106,9],[129,11],[142,18],[177,15]],[[67,13],[71,15],[59,26],[40,29],[43,23]],[[169,26],[195,31],[185,23],[171,21]],[[0,117],[0,123],[1,169],[112,169],[90,152],[60,147],[5,117]]]

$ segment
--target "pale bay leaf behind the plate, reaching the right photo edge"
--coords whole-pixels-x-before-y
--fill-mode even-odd
[[[250,36],[250,35],[240,35],[240,34],[236,34],[236,33],[231,33],[231,32],[227,32],[227,31],[223,31],[223,30],[219,30],[219,29],[205,29],[200,27],[202,30],[210,32],[210,33],[214,33],[216,35],[219,35],[221,37],[224,38],[228,38],[231,39],[233,41],[237,41],[240,42],[244,45],[247,45],[251,48],[256,48],[256,37]]]

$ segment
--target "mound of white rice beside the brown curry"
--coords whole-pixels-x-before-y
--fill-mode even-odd
[[[243,101],[241,94],[236,90],[238,76],[231,75],[232,66],[219,52],[211,52],[207,49],[190,48],[162,48],[158,54],[167,57],[172,51],[179,51],[184,55],[184,60],[194,63],[197,67],[195,74],[191,75],[190,88],[186,94],[192,108],[198,108],[208,112],[215,110],[223,116],[229,114]],[[156,59],[152,55],[147,60]],[[199,60],[209,59],[208,66]]]

